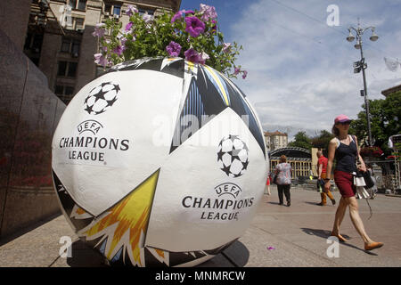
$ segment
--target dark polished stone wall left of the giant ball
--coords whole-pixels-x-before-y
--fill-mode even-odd
[[[0,29],[0,237],[60,211],[51,143],[65,107]]]

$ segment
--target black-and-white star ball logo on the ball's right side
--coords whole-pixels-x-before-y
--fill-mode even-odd
[[[240,177],[250,163],[249,149],[238,135],[225,136],[217,147],[217,163],[229,177]]]

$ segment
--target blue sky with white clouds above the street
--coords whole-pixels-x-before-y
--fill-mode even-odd
[[[373,26],[379,36],[372,42],[368,29],[362,37],[368,98],[384,99],[382,90],[401,84],[401,66],[393,72],[384,61],[401,61],[399,0],[182,0],[181,9],[199,10],[201,3],[216,7],[225,42],[243,46],[236,63],[248,77],[233,81],[257,110],[264,131],[279,130],[291,140],[299,131],[331,131],[337,115],[357,118],[364,85],[353,62],[361,55],[346,37],[358,18],[361,28]]]

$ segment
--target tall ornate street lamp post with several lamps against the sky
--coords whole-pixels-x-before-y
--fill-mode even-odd
[[[367,128],[368,128],[368,144],[369,144],[369,146],[372,146],[371,118],[369,115],[369,100],[368,100],[367,87],[366,87],[366,77],[364,74],[364,69],[367,69],[367,64],[364,61],[364,52],[362,49],[362,35],[364,35],[364,32],[367,29],[372,30],[372,36],[370,37],[370,40],[372,42],[377,41],[377,39],[379,37],[374,33],[374,27],[371,26],[368,28],[361,28],[359,25],[359,22],[358,22],[357,28],[354,28],[354,27],[348,28],[349,36],[347,37],[347,40],[348,40],[348,42],[353,42],[354,39],[356,39],[356,45],[354,45],[354,47],[356,49],[361,50],[361,61],[354,62],[354,72],[358,73],[362,69],[362,77],[364,77],[364,94],[363,95],[364,95],[364,106],[365,106],[365,110],[366,110],[366,119],[367,119]],[[352,34],[351,30],[355,31],[356,37]],[[361,93],[362,93],[362,90],[361,90]],[[362,96],[362,94],[361,94],[361,96]]]

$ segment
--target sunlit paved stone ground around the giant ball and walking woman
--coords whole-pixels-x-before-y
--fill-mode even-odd
[[[327,256],[327,243],[337,208],[317,206],[320,195],[299,187],[291,189],[291,207],[279,206],[277,191],[264,195],[258,214],[241,238],[225,251],[199,265],[201,267],[338,267],[401,266],[401,198],[379,194],[370,199],[369,219],[366,201],[359,200],[359,211],[366,232],[384,247],[371,252],[353,227],[348,212],[341,224],[339,257]],[[339,201],[340,193],[334,192]],[[72,239],[72,257],[59,254],[62,236]],[[55,216],[36,226],[0,240],[1,267],[80,267],[105,266],[102,256],[78,240],[64,216]]]

